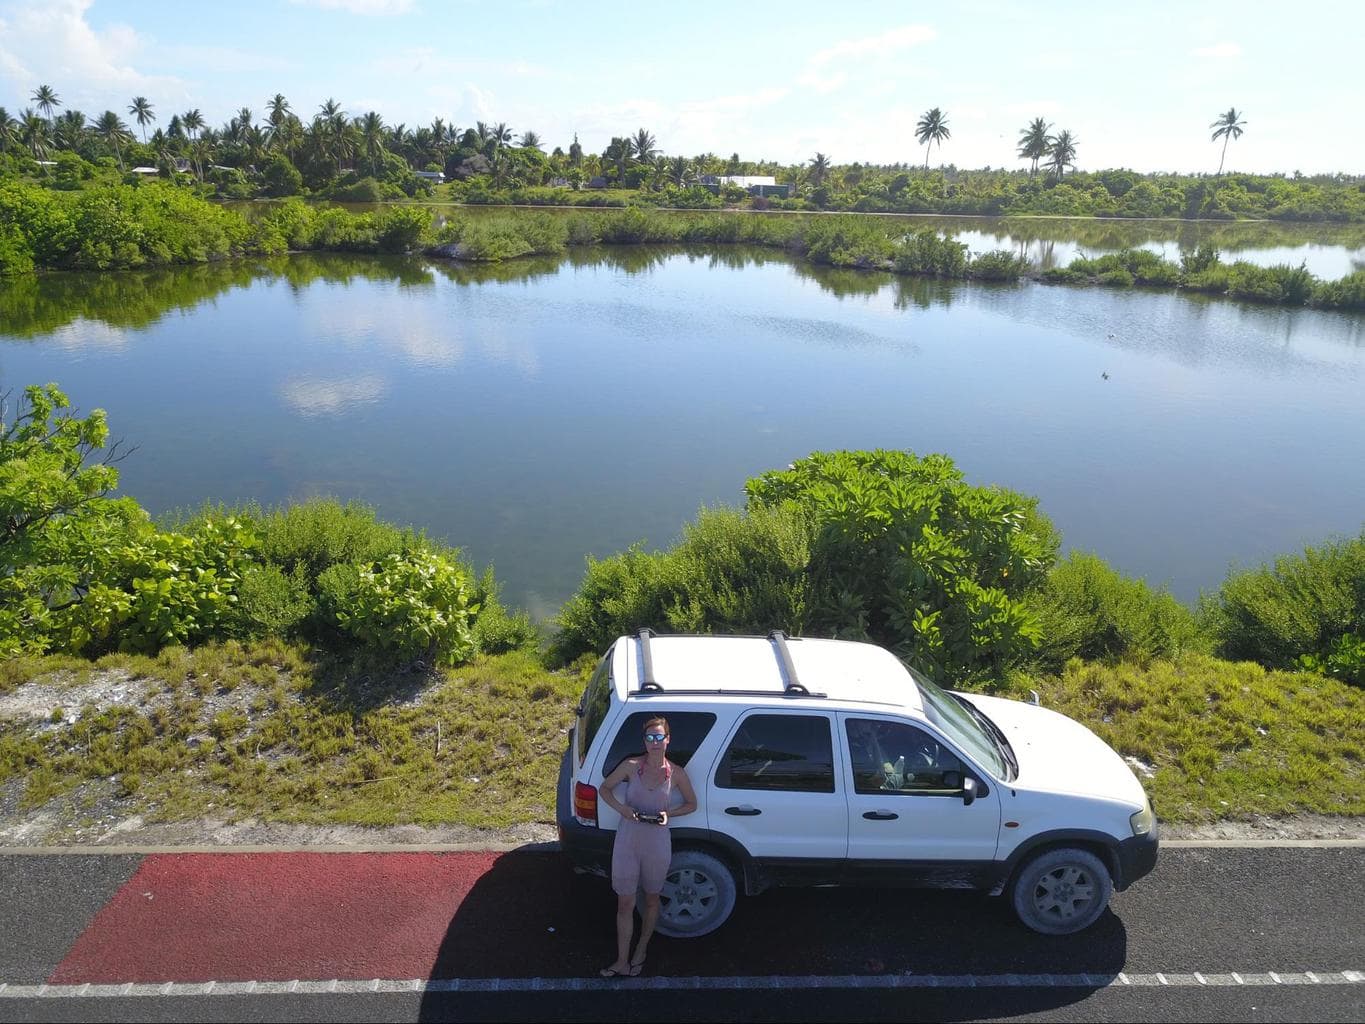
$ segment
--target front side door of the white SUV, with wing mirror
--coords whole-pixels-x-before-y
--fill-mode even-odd
[[[930,729],[841,714],[849,806],[849,881],[976,883],[995,859],[999,784]],[[977,796],[964,799],[964,780]]]

